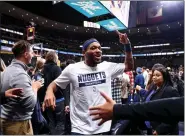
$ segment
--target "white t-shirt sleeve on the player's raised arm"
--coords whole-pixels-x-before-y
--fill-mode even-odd
[[[112,63],[112,62],[107,62],[108,63],[108,68],[111,73],[111,78],[114,79],[118,75],[122,75],[124,70],[125,70],[125,64],[124,63]]]

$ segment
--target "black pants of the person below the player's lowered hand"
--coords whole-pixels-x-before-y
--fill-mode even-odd
[[[64,101],[56,103],[55,110],[47,109],[46,116],[48,119],[51,135],[65,134],[65,105]]]

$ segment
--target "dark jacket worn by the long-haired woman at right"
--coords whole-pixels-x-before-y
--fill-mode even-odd
[[[147,96],[152,92],[152,90],[150,91],[141,90],[140,92],[142,94],[145,94],[145,100],[146,100]],[[164,98],[171,98],[171,97],[179,97],[179,94],[175,88],[173,88],[170,85],[166,85],[164,89],[156,91],[151,96],[150,101],[164,99]],[[171,105],[168,105],[168,106],[171,106]],[[157,131],[158,134],[173,134],[173,135],[178,134],[178,122],[165,124],[162,122],[151,121],[151,126],[154,130]]]

